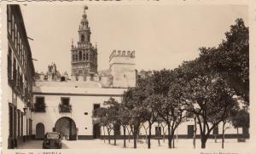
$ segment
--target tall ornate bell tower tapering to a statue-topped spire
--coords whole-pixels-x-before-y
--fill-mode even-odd
[[[71,76],[74,80],[93,80],[97,74],[97,48],[90,43],[90,26],[87,20],[86,10],[79,25],[79,41],[77,45],[71,45]]]

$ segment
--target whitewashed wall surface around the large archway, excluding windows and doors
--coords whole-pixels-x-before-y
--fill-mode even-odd
[[[42,96],[35,94],[35,97]],[[59,104],[61,97],[69,97],[70,105],[72,106],[71,113],[60,113]],[[32,133],[36,134],[36,125],[44,123],[45,132],[51,132],[55,127],[56,121],[61,117],[71,117],[79,129],[78,135],[92,135],[92,110],[93,104],[101,104],[108,100],[110,96],[73,96],[73,95],[44,95],[44,102],[46,105],[45,112],[33,112],[33,126]],[[120,97],[113,97],[120,101]],[[88,115],[84,115],[88,112]],[[87,129],[85,129],[87,128]]]

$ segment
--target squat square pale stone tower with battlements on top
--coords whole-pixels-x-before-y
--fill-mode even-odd
[[[113,76],[113,87],[135,87],[135,51],[113,50],[109,56],[109,65]]]

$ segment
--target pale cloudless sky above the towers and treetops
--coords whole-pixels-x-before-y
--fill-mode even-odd
[[[194,60],[200,47],[215,47],[237,18],[248,26],[243,5],[87,5],[91,43],[98,48],[98,71],[108,69],[113,49],[135,50],[137,70],[174,69]],[[71,44],[79,39],[84,5],[27,4],[21,12],[36,71],[55,62],[71,72]]]

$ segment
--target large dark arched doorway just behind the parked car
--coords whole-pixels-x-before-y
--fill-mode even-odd
[[[70,117],[61,117],[55,123],[55,131],[59,132],[63,139],[77,140],[76,123]]]

